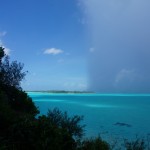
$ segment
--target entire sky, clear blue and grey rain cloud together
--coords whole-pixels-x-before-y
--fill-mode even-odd
[[[0,0],[0,45],[24,90],[150,93],[149,0]]]

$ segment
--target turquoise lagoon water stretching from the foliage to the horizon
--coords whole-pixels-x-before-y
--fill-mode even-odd
[[[41,114],[55,107],[83,115],[85,136],[135,138],[150,135],[150,94],[51,94],[28,92]]]

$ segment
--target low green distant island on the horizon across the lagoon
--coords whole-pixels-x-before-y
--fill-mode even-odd
[[[66,93],[66,94],[84,94],[84,93],[94,93],[92,91],[65,91],[65,90],[47,90],[47,91],[26,91],[26,92],[42,92],[42,93]]]

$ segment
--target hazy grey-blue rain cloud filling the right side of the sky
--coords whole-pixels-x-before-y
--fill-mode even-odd
[[[90,30],[90,89],[150,92],[150,1],[80,0]]]

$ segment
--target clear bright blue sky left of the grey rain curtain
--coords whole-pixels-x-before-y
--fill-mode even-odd
[[[88,44],[76,0],[0,0],[0,40],[25,90],[86,90]]]

